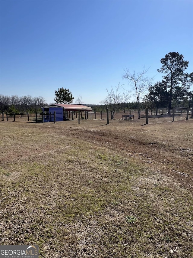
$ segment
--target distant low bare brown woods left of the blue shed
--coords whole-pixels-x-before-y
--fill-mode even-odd
[[[39,97],[32,96],[22,96],[18,97],[17,95],[4,96],[0,94],[0,110],[7,112],[26,112],[34,113],[41,110],[41,106],[47,105],[46,100]]]

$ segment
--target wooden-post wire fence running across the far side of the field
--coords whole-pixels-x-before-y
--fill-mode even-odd
[[[180,108],[164,108],[164,109],[141,109],[140,114],[137,109],[123,109],[119,112],[115,112],[113,119],[122,120],[136,120],[140,115],[140,121],[146,122],[148,114],[148,123],[154,122],[166,122],[166,121],[177,121],[177,120],[188,120],[193,118],[193,107],[180,107]],[[70,111],[65,113],[65,117],[68,120],[78,119],[78,111]],[[109,119],[112,117],[112,112],[109,112]],[[0,121],[34,121],[36,115],[29,113],[0,113]],[[37,119],[41,119],[41,115],[37,116]],[[106,112],[80,112],[80,119],[107,119]],[[144,120],[144,121],[142,121]]]

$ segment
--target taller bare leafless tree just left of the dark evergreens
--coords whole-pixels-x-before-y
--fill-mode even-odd
[[[133,73],[131,73],[129,69],[126,68],[122,75],[124,79],[128,80],[128,85],[131,85],[132,87],[131,92],[134,93],[137,98],[138,119],[140,119],[140,100],[144,96],[144,93],[147,92],[154,78],[147,76],[148,69],[144,68],[141,72],[135,73],[135,71],[133,71]]]

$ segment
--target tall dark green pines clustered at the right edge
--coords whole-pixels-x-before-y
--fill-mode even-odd
[[[144,100],[150,102],[156,108],[179,106],[188,104],[193,106],[193,72],[188,74],[188,61],[178,52],[170,52],[160,60],[162,66],[158,72],[163,73],[163,80],[150,85],[149,93]]]

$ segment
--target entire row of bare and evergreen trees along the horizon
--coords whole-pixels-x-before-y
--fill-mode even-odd
[[[107,90],[107,97],[102,100],[101,106],[93,106],[96,111],[101,111],[105,107],[109,107],[114,116],[119,109],[138,109],[138,119],[140,119],[140,109],[149,108],[169,108],[172,106],[193,106],[193,91],[190,86],[193,85],[193,72],[188,74],[188,61],[184,60],[184,56],[178,52],[169,52],[160,60],[162,66],[157,71],[163,74],[163,80],[152,84],[154,77],[148,77],[148,69],[141,72],[132,73],[128,68],[124,70],[123,79],[128,81],[128,86],[124,84],[111,87]],[[134,94],[136,102],[128,103],[130,95]],[[55,90],[56,103],[71,104],[74,97],[69,89],[60,88]],[[79,96],[75,102],[83,104],[82,96]],[[46,105],[43,97],[32,96],[3,96],[0,95],[0,110],[19,112],[31,111],[35,112],[41,106]]]

